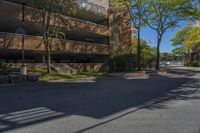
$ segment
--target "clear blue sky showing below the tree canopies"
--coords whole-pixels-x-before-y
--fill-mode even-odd
[[[161,52],[170,52],[174,47],[171,46],[171,39],[176,35],[176,32],[185,27],[188,22],[183,21],[178,27],[168,30],[161,42]],[[156,32],[150,28],[143,28],[141,38],[146,40],[151,46],[156,46]]]

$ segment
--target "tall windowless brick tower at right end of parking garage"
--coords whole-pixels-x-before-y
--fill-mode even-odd
[[[119,12],[109,4],[110,53],[131,53],[132,25],[128,11]]]

